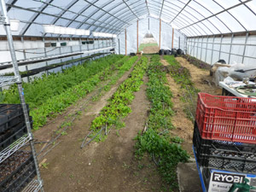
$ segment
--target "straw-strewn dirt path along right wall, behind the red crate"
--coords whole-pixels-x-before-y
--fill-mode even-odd
[[[221,95],[221,89],[212,83],[212,77],[209,75],[208,70],[200,69],[190,64],[182,57],[176,57],[176,60],[183,66],[189,69],[191,80],[195,83],[195,87],[201,92],[206,92],[215,96]],[[207,80],[207,81],[206,81]],[[208,84],[211,83],[211,86]]]

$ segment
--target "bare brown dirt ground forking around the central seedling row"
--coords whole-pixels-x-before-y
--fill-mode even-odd
[[[83,112],[70,127],[72,131],[67,131],[67,135],[61,137],[61,143],[44,157],[46,161],[44,167],[41,167],[41,172],[45,191],[157,191],[156,189],[160,189],[160,176],[155,166],[151,165],[147,158],[141,162],[134,159],[133,138],[136,137],[137,131],[143,130],[149,108],[146,84],[135,93],[135,99],[131,104],[132,113],[124,119],[125,128],[118,132],[110,131],[108,138],[102,143],[90,143],[80,148],[82,139],[90,128],[90,122],[128,75],[129,73],[125,73],[123,78],[119,79],[119,83],[101,100],[90,102],[88,110]],[[148,79],[144,78],[144,81],[146,83]],[[50,125],[48,126],[50,128]],[[40,133],[44,131],[37,131],[35,136],[40,138]]]

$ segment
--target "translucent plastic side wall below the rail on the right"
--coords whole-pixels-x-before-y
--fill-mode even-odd
[[[219,59],[256,65],[256,36],[189,38],[187,43],[189,55],[211,65]]]

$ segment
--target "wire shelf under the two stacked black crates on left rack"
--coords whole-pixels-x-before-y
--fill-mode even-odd
[[[15,151],[26,145],[29,141],[30,137],[24,136],[15,141],[15,143],[10,144],[9,147],[4,148],[3,151],[0,152],[0,163],[9,158],[10,155],[14,154]]]

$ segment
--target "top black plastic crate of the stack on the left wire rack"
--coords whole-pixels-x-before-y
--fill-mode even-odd
[[[28,105],[26,108],[29,112]],[[20,104],[0,104],[0,133],[23,121],[25,118]]]

